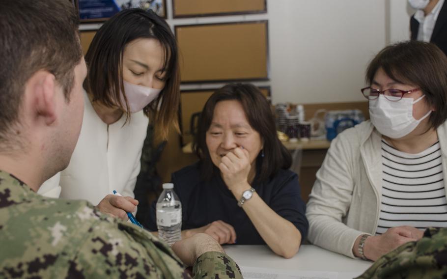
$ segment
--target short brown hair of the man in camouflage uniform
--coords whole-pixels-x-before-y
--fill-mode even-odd
[[[82,57],[78,26],[67,0],[0,0],[0,149],[17,140],[10,129],[35,72],[55,75],[69,100]]]

